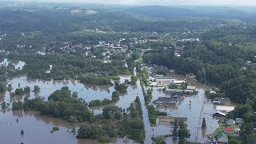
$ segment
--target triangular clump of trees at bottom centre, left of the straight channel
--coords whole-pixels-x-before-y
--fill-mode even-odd
[[[136,100],[125,110],[118,106],[106,106],[103,113],[94,118],[91,126],[80,126],[77,138],[98,139],[100,142],[110,142],[110,138],[125,137],[143,143],[145,130],[142,119],[142,106],[137,97]],[[118,121],[115,122],[115,121]]]

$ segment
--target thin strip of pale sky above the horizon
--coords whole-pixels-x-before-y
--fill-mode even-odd
[[[34,2],[90,2],[99,4],[119,5],[225,5],[225,6],[256,6],[256,0],[30,0]]]

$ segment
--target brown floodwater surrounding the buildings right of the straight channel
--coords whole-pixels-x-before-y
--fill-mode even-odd
[[[164,97],[166,94],[154,88],[153,101],[158,97]],[[190,142],[206,142],[206,134],[212,134],[218,128],[218,120],[213,119],[211,114],[216,111],[213,102],[206,98],[205,90],[199,89],[198,94],[180,98],[181,101],[178,106],[165,107],[160,106],[158,110],[165,111],[171,117],[187,118],[188,130],[190,130],[191,137],[187,140]],[[191,107],[190,107],[191,101]],[[206,130],[202,130],[202,118],[206,118]],[[172,126],[154,126],[154,135],[171,134]],[[176,142],[173,142],[176,143]]]

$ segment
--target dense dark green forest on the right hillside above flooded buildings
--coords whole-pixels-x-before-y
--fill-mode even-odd
[[[229,118],[244,118],[246,125],[242,139],[255,142],[255,26],[225,26],[202,33],[203,42],[178,42],[170,49],[153,48],[146,51],[144,62],[169,67],[178,74],[193,73],[201,82],[219,86],[221,94],[242,103],[229,114]],[[175,47],[182,46],[180,57]]]

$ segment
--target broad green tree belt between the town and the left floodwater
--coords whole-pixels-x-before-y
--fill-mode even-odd
[[[124,67],[125,62],[113,60],[110,63],[103,63],[101,59],[88,58],[86,55],[73,54],[46,54],[37,55],[29,51],[10,52],[7,56],[10,60],[22,60],[26,65],[18,74],[26,74],[29,78],[40,78],[44,80],[63,80],[79,79],[90,84],[110,85],[110,79],[107,76],[117,76],[119,74],[127,74],[127,68]],[[46,71],[53,65],[50,73]],[[7,71],[9,72],[9,71]],[[8,73],[12,76],[14,72]],[[94,75],[83,75],[83,74]],[[96,77],[96,75],[102,78]],[[17,74],[16,74],[17,75]],[[92,77],[92,79],[90,78]]]

